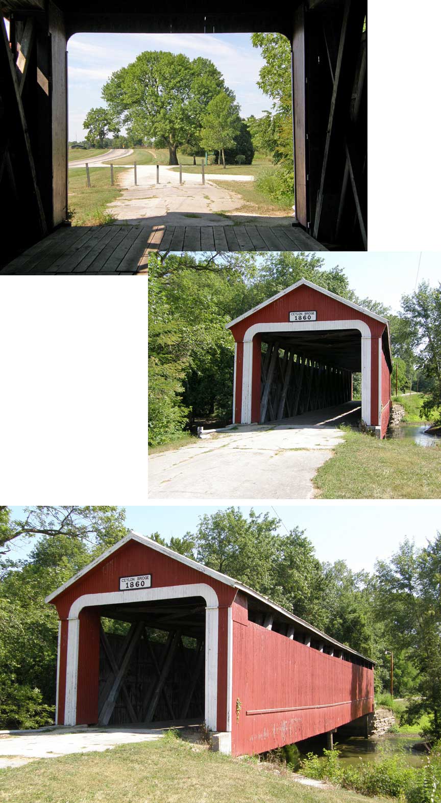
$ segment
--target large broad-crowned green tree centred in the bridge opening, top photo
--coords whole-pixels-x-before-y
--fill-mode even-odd
[[[102,96],[133,136],[164,141],[169,164],[177,165],[179,145],[198,142],[206,107],[219,92],[233,97],[209,59],[145,51],[112,73]]]

